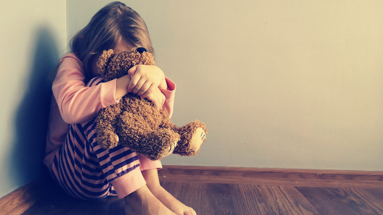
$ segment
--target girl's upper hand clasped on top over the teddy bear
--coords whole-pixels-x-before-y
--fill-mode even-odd
[[[128,70],[128,74],[132,78],[128,92],[143,98],[147,98],[165,79],[164,72],[154,65],[136,65]]]

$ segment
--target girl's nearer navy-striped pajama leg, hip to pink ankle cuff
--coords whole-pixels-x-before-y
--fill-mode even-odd
[[[95,119],[70,126],[52,167],[57,183],[80,199],[117,194],[122,198],[145,185],[137,154],[121,144],[105,150],[98,145],[96,134]]]

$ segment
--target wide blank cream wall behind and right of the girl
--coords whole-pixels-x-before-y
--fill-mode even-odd
[[[68,0],[68,38],[109,1]],[[383,1],[124,1],[177,84],[173,122],[207,124],[164,164],[383,170]]]

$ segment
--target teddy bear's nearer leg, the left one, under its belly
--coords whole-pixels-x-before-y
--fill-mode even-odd
[[[170,129],[156,129],[146,123],[137,114],[123,111],[117,123],[117,134],[122,145],[151,160],[160,160],[173,151],[174,145],[180,139],[179,134]]]

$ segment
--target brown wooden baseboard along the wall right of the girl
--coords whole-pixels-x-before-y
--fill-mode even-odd
[[[333,188],[382,188],[383,171],[164,165],[160,181]]]

